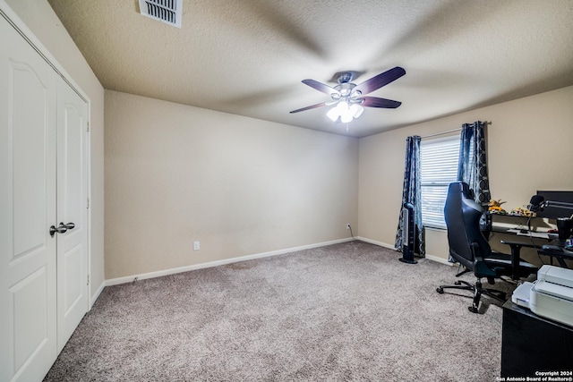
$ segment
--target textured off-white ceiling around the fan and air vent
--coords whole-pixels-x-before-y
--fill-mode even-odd
[[[571,0],[184,0],[182,28],[137,0],[48,0],[105,89],[363,137],[573,85]],[[304,85],[355,83],[402,102],[332,123]],[[346,130],[347,129],[347,130]]]

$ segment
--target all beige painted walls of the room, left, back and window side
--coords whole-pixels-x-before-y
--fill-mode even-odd
[[[392,245],[406,136],[478,119],[492,122],[492,197],[507,200],[504,207],[538,189],[573,189],[571,87],[359,143],[107,91],[104,276],[104,90],[46,0],[6,3],[90,98],[92,295],[104,277],[339,239],[346,222]],[[191,250],[195,240],[200,251]],[[444,233],[428,231],[426,240],[428,254],[447,257]]]

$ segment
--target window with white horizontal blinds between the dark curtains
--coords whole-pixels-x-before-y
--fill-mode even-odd
[[[458,180],[459,135],[420,143],[422,223],[446,228],[444,205],[449,183]]]

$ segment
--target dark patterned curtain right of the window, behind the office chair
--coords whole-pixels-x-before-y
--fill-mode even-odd
[[[475,202],[482,206],[487,206],[491,199],[485,151],[485,123],[464,123],[459,142],[458,181],[469,185]]]

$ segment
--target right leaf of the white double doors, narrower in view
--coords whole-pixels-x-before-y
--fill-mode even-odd
[[[57,84],[57,349],[88,310],[87,113],[64,80]]]

